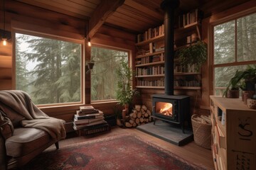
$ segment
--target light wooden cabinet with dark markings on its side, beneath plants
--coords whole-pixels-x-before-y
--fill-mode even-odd
[[[215,169],[256,169],[256,111],[239,98],[210,101]]]

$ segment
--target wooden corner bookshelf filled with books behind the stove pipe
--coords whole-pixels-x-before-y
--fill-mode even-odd
[[[195,9],[178,17],[174,50],[201,40],[200,13]],[[182,21],[182,22],[181,22]],[[164,25],[137,35],[135,58],[136,88],[164,89]],[[201,90],[201,72],[195,66],[183,66],[175,59],[174,89]]]

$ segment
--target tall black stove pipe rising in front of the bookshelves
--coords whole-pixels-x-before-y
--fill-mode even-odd
[[[174,95],[174,11],[179,0],[164,0],[164,72],[165,94]]]

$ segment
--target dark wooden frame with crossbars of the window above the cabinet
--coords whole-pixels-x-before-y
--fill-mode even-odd
[[[252,13],[256,13],[255,8],[250,8],[245,11],[241,11],[239,13],[235,13],[230,16],[226,16],[224,18],[217,18],[215,21],[212,23],[210,22],[209,26],[209,46],[210,47],[210,94],[215,95],[215,68],[218,67],[233,67],[233,66],[239,66],[239,65],[248,65],[248,64],[256,64],[256,60],[251,60],[251,61],[245,61],[245,62],[238,62],[237,60],[237,20],[238,18],[242,18],[245,16],[248,16]],[[214,20],[215,18],[213,18]],[[215,64],[214,63],[214,27],[218,26],[223,23],[227,23],[229,21],[235,20],[235,62],[230,62],[230,63],[223,63],[223,64]],[[224,88],[224,87],[223,87]]]

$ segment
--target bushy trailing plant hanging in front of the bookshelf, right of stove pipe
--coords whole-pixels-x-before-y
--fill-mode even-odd
[[[195,66],[195,71],[199,72],[201,66],[207,59],[206,42],[199,40],[194,45],[182,47],[175,52],[175,57],[183,65]]]

